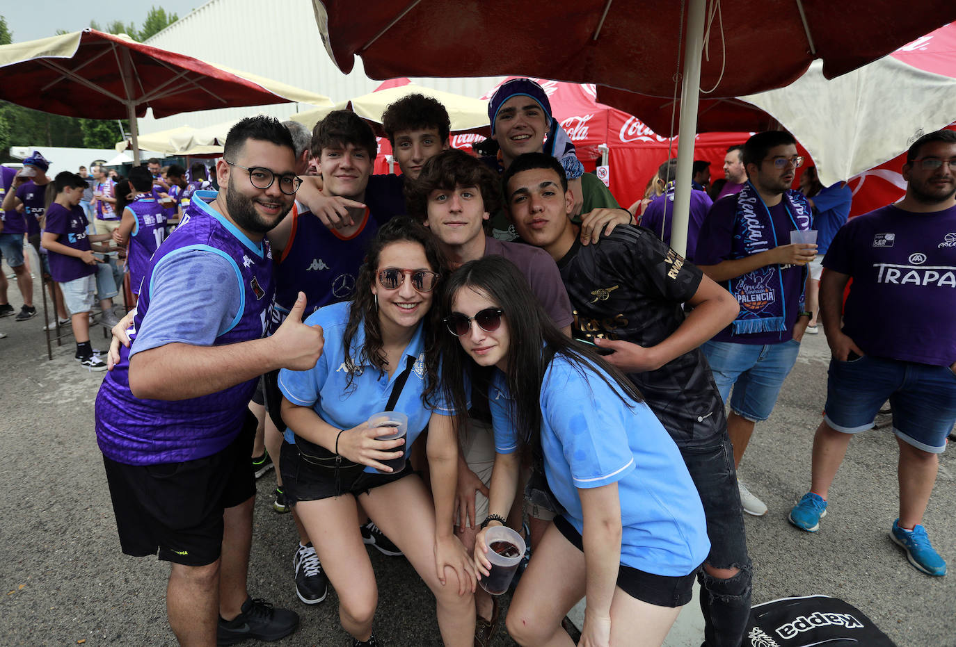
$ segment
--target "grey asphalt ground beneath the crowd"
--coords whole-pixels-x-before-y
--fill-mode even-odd
[[[40,303],[38,281],[35,287]],[[10,300],[19,309],[13,282]],[[0,332],[7,335],[0,339],[0,505],[5,511],[0,642],[175,645],[165,619],[168,566],[120,553],[94,434],[94,399],[103,373],[76,364],[72,338],[54,347],[54,360],[47,361],[42,326],[42,311],[28,322],[0,319]],[[105,347],[101,329],[93,332],[94,346]],[[823,335],[805,338],[771,419],[757,426],[741,466],[741,478],[770,507],[764,517],[747,517],[753,602],[835,595],[870,616],[901,647],[954,647],[956,574],[917,572],[887,536],[898,514],[897,449],[888,425],[860,434],[851,444],[820,532],[798,531],[786,520],[809,487],[811,441],[825,400],[828,361]],[[924,526],[952,568],[956,464],[951,456],[950,451],[941,458]],[[258,482],[250,593],[301,616],[298,632],[276,644],[350,644],[338,626],[334,592],[312,607],[295,597],[293,520],[272,511],[273,487],[270,471]],[[376,631],[383,643],[440,644],[434,603],[418,576],[401,557],[370,553],[380,591]],[[513,643],[500,629],[493,644]]]

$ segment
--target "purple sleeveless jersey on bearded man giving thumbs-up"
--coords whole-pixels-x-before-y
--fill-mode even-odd
[[[177,262],[178,256],[185,259],[183,254],[194,250],[228,259],[242,289],[242,303],[232,326],[213,345],[263,336],[272,303],[269,242],[263,240],[258,248],[244,243],[248,239],[208,206],[215,196],[197,192],[183,223],[149,262],[131,329],[132,344],[136,344],[135,333],[149,311],[151,279],[157,267]],[[97,395],[99,449],[107,458],[128,465],[176,463],[212,455],[228,447],[239,433],[257,380],[188,400],[141,400],[129,388],[129,350],[120,347],[120,364],[107,373]]]

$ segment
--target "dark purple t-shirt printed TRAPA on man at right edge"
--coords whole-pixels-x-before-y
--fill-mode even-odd
[[[956,207],[919,214],[890,205],[851,219],[823,266],[853,278],[843,333],[864,353],[956,361]]]

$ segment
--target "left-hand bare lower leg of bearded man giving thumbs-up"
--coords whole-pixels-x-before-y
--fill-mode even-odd
[[[216,644],[219,560],[206,566],[173,564],[166,584],[166,616],[183,647]]]

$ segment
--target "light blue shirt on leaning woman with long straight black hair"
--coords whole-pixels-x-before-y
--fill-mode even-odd
[[[685,575],[710,551],[701,498],[670,435],[643,403],[627,407],[591,366],[557,355],[541,386],[545,476],[566,518],[584,532],[578,489],[618,484],[620,563],[645,573]],[[489,391],[494,446],[518,447],[505,376]],[[573,397],[571,397],[573,395]]]

